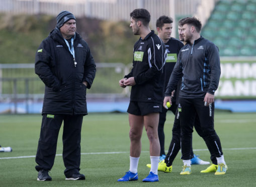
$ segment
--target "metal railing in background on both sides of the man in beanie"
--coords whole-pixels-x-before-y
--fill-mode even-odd
[[[130,89],[121,88],[118,81],[130,71],[131,64],[96,63],[96,67],[93,86],[87,91],[89,100],[116,101],[129,97]],[[44,83],[34,72],[34,64],[0,64],[0,113],[33,113],[32,107],[42,105],[44,89]]]

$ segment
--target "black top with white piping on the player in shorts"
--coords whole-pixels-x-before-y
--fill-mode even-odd
[[[130,101],[162,104],[164,93],[164,64],[167,52],[161,39],[151,31],[135,43],[133,68],[125,78],[134,77]]]

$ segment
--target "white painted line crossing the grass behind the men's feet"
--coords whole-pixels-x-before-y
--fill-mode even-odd
[[[244,148],[223,148],[223,150],[248,150],[256,149],[256,147],[244,147]],[[208,149],[193,149],[194,151],[208,151]],[[149,151],[141,151],[142,153],[148,153]],[[119,152],[96,152],[96,153],[81,153],[81,155],[92,155],[92,154],[122,154],[129,153],[129,151],[119,151]],[[56,156],[62,156],[62,154],[56,154]],[[36,156],[15,156],[15,157],[3,157],[0,159],[15,159],[15,158],[35,158]]]

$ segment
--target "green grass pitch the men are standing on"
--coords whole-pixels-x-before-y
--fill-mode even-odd
[[[164,126],[165,150],[171,139],[174,115],[167,114]],[[159,182],[144,183],[150,163],[145,131],[138,166],[138,181],[117,182],[129,169],[128,115],[120,113],[89,114],[83,118],[80,172],[85,181],[66,181],[63,171],[62,128],[57,156],[50,175],[52,181],[37,181],[35,154],[41,127],[41,115],[1,115],[0,144],[13,152],[0,153],[0,186],[254,186],[256,182],[255,113],[215,112],[215,130],[220,137],[228,171],[225,175],[200,173],[208,165],[192,165],[191,175],[180,175],[181,153],[171,173],[158,172]],[[210,161],[206,145],[196,132],[193,148],[200,158]],[[24,156],[24,157],[23,157]]]

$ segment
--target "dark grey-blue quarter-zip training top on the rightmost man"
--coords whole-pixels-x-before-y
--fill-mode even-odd
[[[219,50],[202,36],[194,44],[186,44],[167,85],[165,96],[170,96],[182,77],[181,98],[204,98],[206,92],[214,95],[220,78]]]

